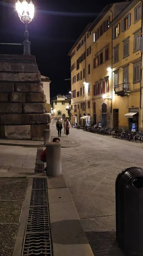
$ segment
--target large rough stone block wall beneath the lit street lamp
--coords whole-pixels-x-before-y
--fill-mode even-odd
[[[43,140],[47,112],[34,56],[0,55],[0,137]]]

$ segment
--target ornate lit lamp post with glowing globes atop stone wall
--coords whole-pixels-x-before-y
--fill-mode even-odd
[[[34,4],[32,3],[32,1],[30,1],[30,3],[27,3],[26,0],[23,0],[21,3],[20,0],[17,0],[16,10],[18,12],[18,16],[20,17],[21,22],[25,24],[25,32],[24,32],[25,40],[23,42],[23,46],[24,46],[23,55],[31,55],[31,50],[30,50],[31,42],[29,42],[28,40],[29,33],[28,33],[27,25],[32,21],[34,17]]]

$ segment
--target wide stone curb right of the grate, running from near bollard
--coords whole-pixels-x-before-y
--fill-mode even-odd
[[[53,256],[93,256],[63,175],[47,183]]]

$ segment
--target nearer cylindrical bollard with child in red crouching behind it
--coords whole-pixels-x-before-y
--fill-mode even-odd
[[[48,143],[46,145],[46,173],[47,176],[62,175],[61,144]]]

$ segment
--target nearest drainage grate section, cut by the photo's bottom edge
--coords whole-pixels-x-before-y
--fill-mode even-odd
[[[51,256],[50,233],[26,234],[23,256]]]

